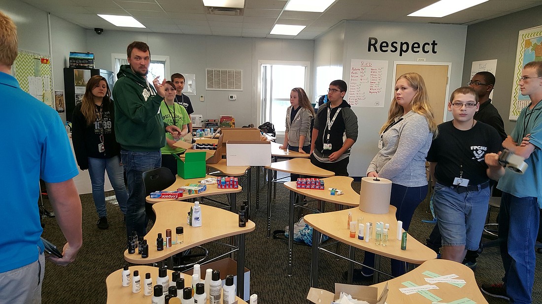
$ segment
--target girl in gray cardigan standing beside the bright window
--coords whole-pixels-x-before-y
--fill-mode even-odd
[[[309,153],[311,150],[311,123],[315,113],[305,90],[293,88],[290,103],[286,110],[286,131],[284,143],[279,148]]]

